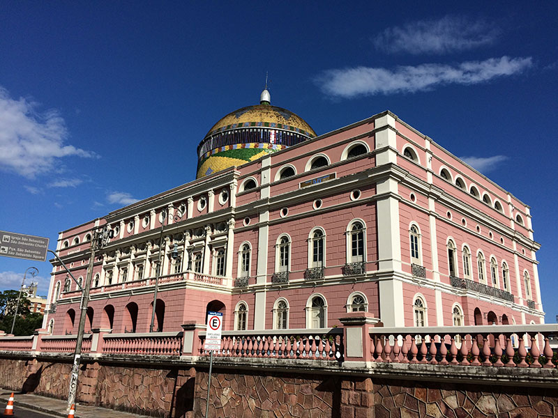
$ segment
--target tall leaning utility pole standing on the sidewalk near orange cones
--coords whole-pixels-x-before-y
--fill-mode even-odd
[[[72,366],[72,373],[70,376],[70,390],[68,392],[68,410],[75,403],[77,392],[77,378],[80,373],[80,363],[82,359],[82,342],[85,330],[85,319],[87,316],[87,304],[89,304],[89,289],[91,288],[91,277],[93,277],[93,264],[95,263],[95,253],[103,248],[112,238],[114,231],[109,230],[105,225],[103,230],[96,230],[93,232],[93,239],[91,240],[91,255],[89,256],[89,267],[87,268],[87,276],[85,279],[85,286],[82,289],[82,301],[80,303],[81,315],[80,326],[77,328],[77,339],[75,340],[74,362]]]

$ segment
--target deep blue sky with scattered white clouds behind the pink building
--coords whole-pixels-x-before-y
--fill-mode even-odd
[[[0,229],[54,249],[188,183],[269,71],[272,103],[318,134],[390,109],[529,204],[555,322],[558,3],[427,3],[0,3]],[[48,263],[5,257],[0,289],[31,265],[45,293]]]

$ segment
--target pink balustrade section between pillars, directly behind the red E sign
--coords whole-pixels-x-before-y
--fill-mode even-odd
[[[199,355],[207,356],[204,332],[199,335]],[[223,332],[216,357],[309,359],[341,361],[342,329],[262,330]]]

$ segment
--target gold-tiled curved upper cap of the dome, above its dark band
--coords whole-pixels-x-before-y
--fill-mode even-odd
[[[278,127],[294,130],[315,137],[316,133],[306,121],[292,111],[271,104],[255,104],[232,111],[211,127],[206,137],[220,130],[234,129],[235,127]],[[294,128],[294,129],[293,129]]]

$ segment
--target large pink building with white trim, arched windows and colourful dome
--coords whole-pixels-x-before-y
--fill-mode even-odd
[[[270,102],[211,128],[196,180],[60,233],[84,283],[93,231],[114,231],[86,332],[148,332],[159,259],[159,331],[209,310],[225,330],[543,323],[529,206],[390,111],[316,137]],[[53,266],[44,326],[75,334],[80,291]]]

